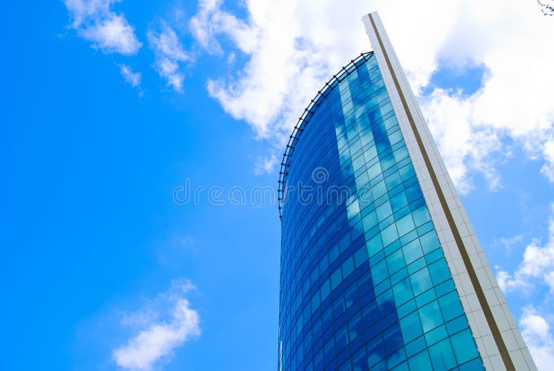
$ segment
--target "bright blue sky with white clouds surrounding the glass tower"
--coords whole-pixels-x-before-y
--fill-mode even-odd
[[[6,3],[0,369],[274,369],[278,211],[229,190],[276,187],[283,137],[370,49],[375,9],[537,363],[554,360],[554,21],[532,1],[505,19],[438,4],[404,4],[434,22],[415,30],[385,1]]]

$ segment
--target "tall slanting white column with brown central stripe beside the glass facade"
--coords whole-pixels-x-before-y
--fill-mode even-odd
[[[362,21],[485,368],[537,370],[379,15]]]

